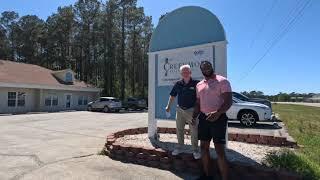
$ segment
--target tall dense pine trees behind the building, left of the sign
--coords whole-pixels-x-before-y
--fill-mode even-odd
[[[76,78],[123,99],[147,96],[152,18],[137,0],[78,0],[46,20],[0,15],[0,59],[71,68]]]

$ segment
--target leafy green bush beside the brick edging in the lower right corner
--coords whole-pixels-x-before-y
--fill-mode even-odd
[[[288,149],[268,153],[263,160],[263,165],[297,173],[304,179],[320,179],[320,167],[317,164],[303,154]]]

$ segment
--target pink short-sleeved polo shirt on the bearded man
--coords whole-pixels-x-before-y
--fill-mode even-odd
[[[203,79],[197,84],[197,98],[200,99],[200,111],[209,113],[217,111],[223,104],[221,94],[232,92],[229,81],[220,75],[214,79]]]

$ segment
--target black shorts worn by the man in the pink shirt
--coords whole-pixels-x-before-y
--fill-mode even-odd
[[[199,115],[198,139],[202,141],[212,141],[218,144],[226,144],[226,131],[228,117],[224,113],[218,120],[210,122],[206,120],[204,113]]]

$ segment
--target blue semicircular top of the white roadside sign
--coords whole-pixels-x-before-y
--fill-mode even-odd
[[[198,6],[178,8],[166,14],[153,31],[149,52],[225,41],[219,19]]]

